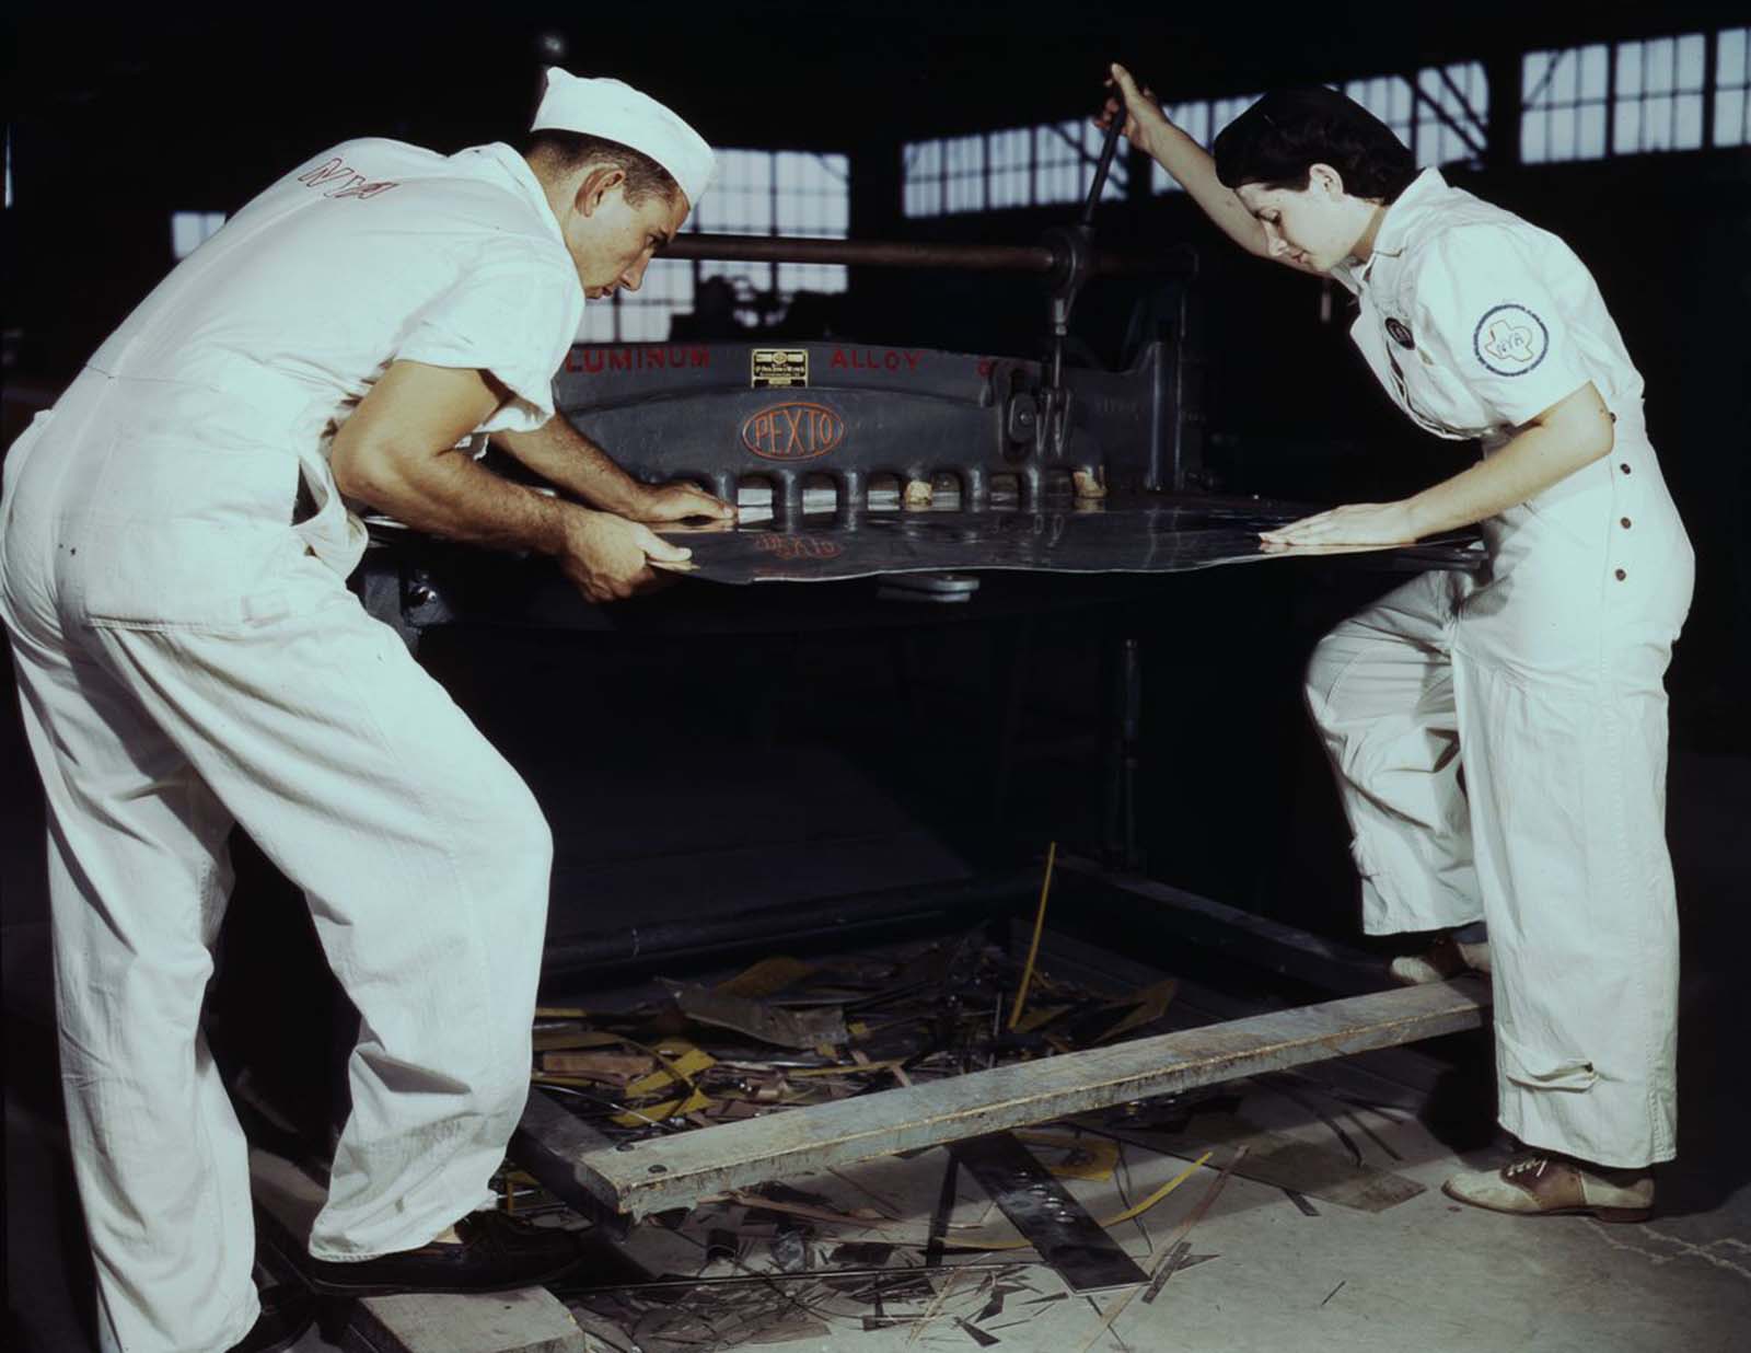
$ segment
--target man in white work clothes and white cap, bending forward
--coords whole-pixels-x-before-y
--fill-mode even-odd
[[[0,612],[49,806],[61,1076],[121,1353],[261,1353],[243,1134],[200,1031],[243,824],[361,1013],[310,1237],[334,1293],[494,1290],[576,1258],[492,1213],[529,1092],[552,839],[517,773],[369,619],[348,499],[539,550],[592,598],[686,550],[553,417],[587,296],[636,289],[713,154],[618,81],[548,72],[524,151],[355,140],[243,207],[7,456]],[[490,433],[571,498],[483,470]],[[578,501],[592,508],[581,506]]]

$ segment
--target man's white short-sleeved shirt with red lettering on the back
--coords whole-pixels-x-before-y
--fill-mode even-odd
[[[559,223],[515,149],[352,140],[243,207],[91,365],[207,389],[310,459],[397,359],[510,387],[476,431],[541,426],[581,317]]]

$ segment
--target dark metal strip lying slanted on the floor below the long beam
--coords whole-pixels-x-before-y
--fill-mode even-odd
[[[949,1151],[1072,1292],[1108,1292],[1149,1281],[1136,1260],[1009,1132],[956,1141]]]

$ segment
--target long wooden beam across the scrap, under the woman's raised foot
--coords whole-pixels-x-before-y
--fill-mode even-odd
[[[637,1218],[727,1188],[1476,1029],[1488,1001],[1485,985],[1466,980],[1371,992],[669,1137],[585,1148],[569,1164],[604,1209]]]

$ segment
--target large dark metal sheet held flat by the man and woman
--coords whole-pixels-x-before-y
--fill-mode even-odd
[[[1467,538],[1385,549],[1266,550],[1259,531],[1310,512],[1255,503],[1065,501],[991,512],[865,512],[804,519],[791,529],[664,528],[693,550],[713,582],[826,582],[895,573],[1030,570],[1044,573],[1180,573],[1311,554],[1390,554],[1418,568],[1476,568]]]

